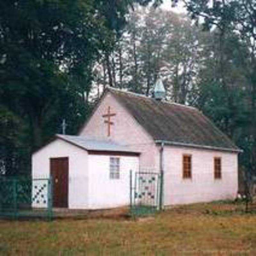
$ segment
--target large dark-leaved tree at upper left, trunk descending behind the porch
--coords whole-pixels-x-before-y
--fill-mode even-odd
[[[37,148],[44,117],[67,90],[69,73],[91,65],[101,27],[86,2],[4,1],[0,10],[2,104],[28,118]]]

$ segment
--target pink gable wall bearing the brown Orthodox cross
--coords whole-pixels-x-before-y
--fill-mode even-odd
[[[104,124],[104,120],[107,120],[107,118],[102,117],[102,115],[107,113],[108,106],[110,106],[110,112],[116,114],[116,116],[111,117],[114,125],[111,125],[109,137],[108,125]],[[155,171],[159,169],[159,165],[157,165],[159,158],[158,149],[153,139],[109,92],[102,99],[100,105],[79,135],[113,140],[127,145],[132,150],[141,152],[141,169]]]

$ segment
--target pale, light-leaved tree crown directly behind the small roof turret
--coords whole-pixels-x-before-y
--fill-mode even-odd
[[[184,15],[154,8],[134,8],[127,21],[109,61],[103,61],[103,84],[150,95],[161,76],[168,99],[185,103],[199,68],[200,30]]]

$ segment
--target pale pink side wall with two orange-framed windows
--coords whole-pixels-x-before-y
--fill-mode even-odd
[[[192,179],[182,178],[183,154],[192,155]],[[220,180],[214,179],[214,157],[221,157]],[[164,147],[164,205],[234,199],[237,189],[237,153]]]

